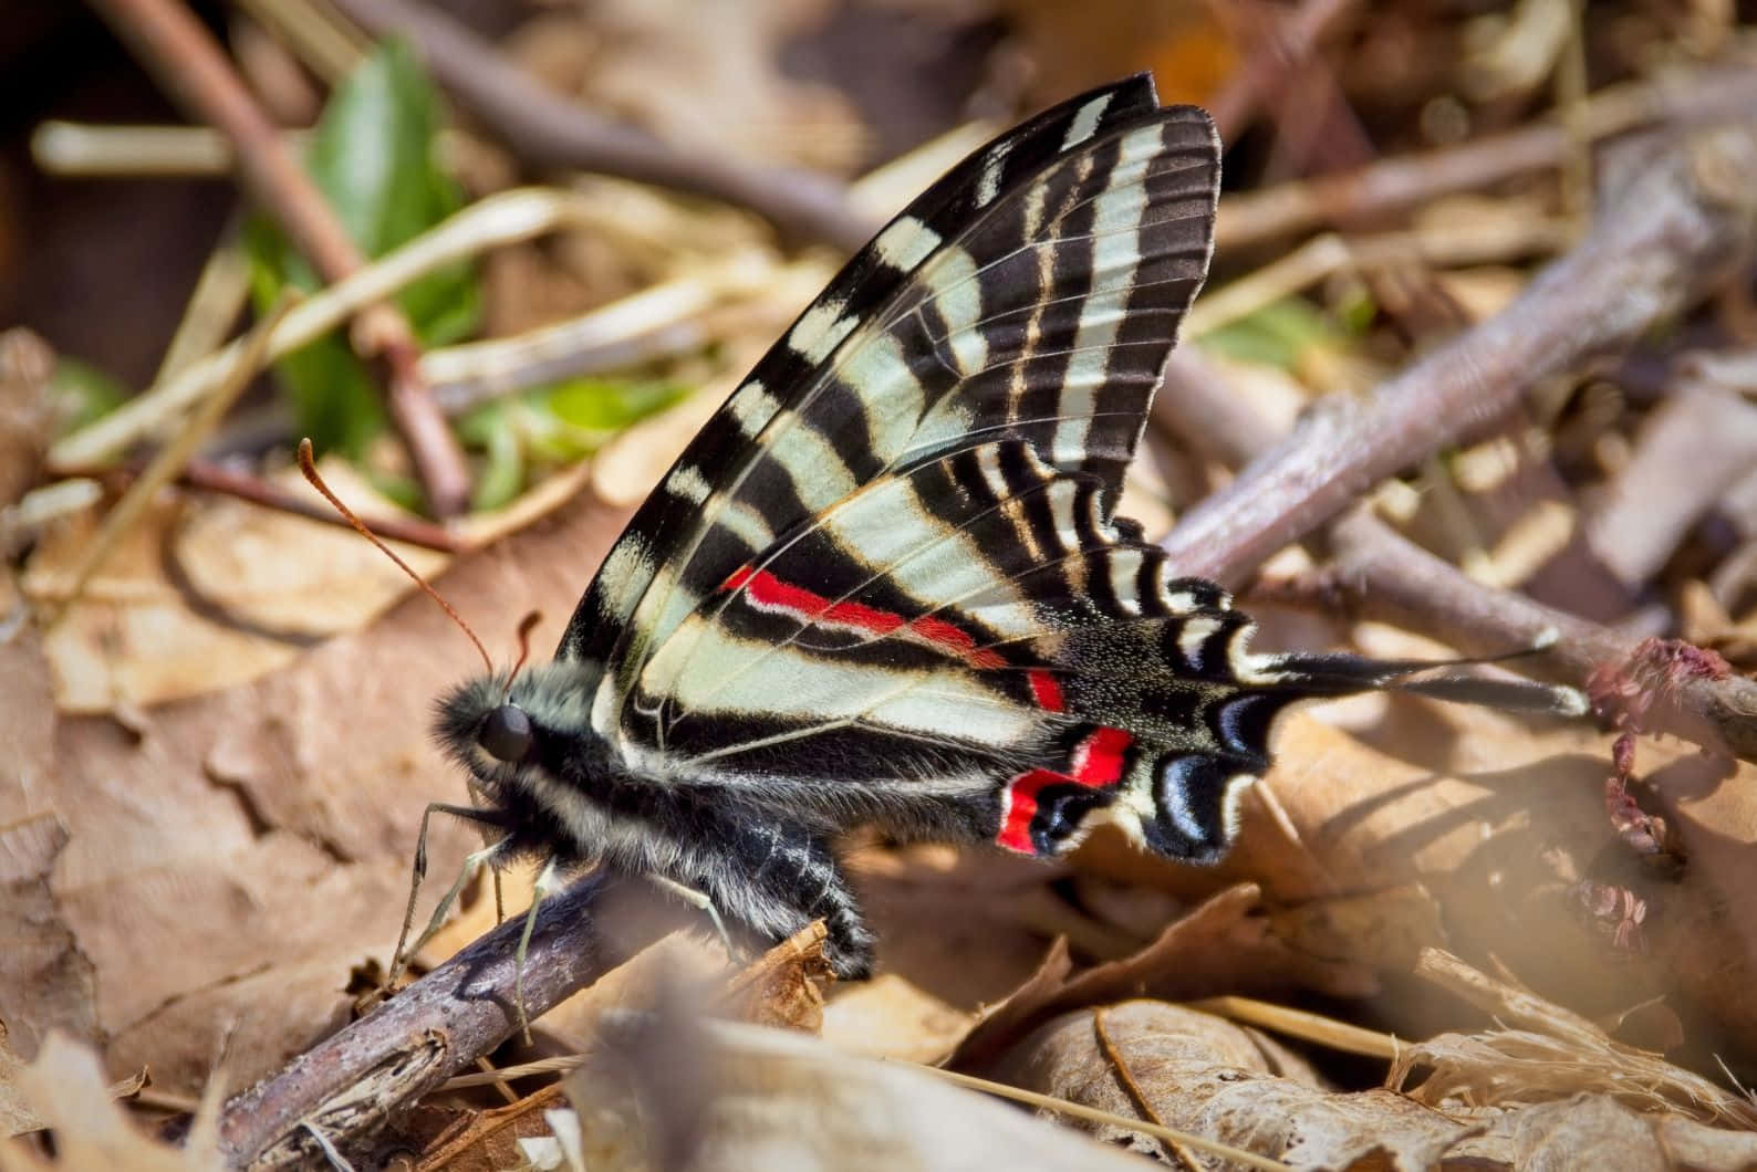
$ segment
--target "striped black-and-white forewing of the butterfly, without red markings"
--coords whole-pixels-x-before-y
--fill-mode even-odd
[[[1042,114],[915,200],[611,549],[560,651],[608,667],[594,725],[620,737],[643,665],[727,575],[928,453],[1019,437],[1110,507],[1205,270],[1216,184],[1207,116],[1154,109],[1139,77]]]

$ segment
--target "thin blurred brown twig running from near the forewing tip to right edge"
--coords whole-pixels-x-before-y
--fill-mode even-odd
[[[1518,175],[1564,165],[1580,149],[1580,133],[1599,140],[1655,123],[1685,130],[1745,118],[1753,109],[1757,70],[1748,65],[1613,86],[1594,95],[1583,111],[1571,114],[1580,119],[1578,128],[1573,121],[1564,125],[1553,119],[1455,147],[1226,197],[1219,204],[1214,242],[1225,253],[1316,225],[1348,225],[1457,191],[1483,191]]]

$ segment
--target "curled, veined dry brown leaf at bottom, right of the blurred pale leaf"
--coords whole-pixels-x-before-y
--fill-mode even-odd
[[[1298,1168],[1428,1168],[1467,1126],[1386,1091],[1339,1095],[1256,1032],[1163,1002],[1124,1002],[1045,1023],[991,1077],[1283,1160]],[[1095,1139],[1167,1158],[1121,1125]]]

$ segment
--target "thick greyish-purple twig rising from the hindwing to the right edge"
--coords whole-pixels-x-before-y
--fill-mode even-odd
[[[1753,107],[1757,109],[1757,107]],[[1646,168],[1499,316],[1370,398],[1328,398],[1167,539],[1179,570],[1237,582],[1377,481],[1481,433],[1541,379],[1680,312],[1757,242],[1757,125],[1699,132]]]

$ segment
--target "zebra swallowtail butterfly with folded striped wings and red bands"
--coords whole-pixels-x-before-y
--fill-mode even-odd
[[[1254,653],[1114,512],[1218,184],[1209,116],[1142,75],[893,219],[647,498],[555,660],[441,702],[487,861],[657,874],[777,939],[824,919],[861,977],[842,832],[1049,856],[1112,821],[1214,861],[1277,712],[1432,667]]]

